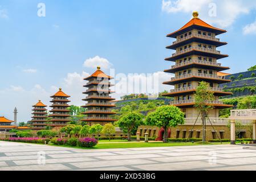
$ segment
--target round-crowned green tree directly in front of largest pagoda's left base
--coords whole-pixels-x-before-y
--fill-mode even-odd
[[[185,123],[184,113],[176,106],[160,106],[156,111],[149,113],[146,124],[162,127],[164,129],[164,143],[167,142],[168,128],[183,125]]]

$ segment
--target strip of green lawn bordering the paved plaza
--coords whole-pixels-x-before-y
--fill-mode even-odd
[[[222,144],[228,144],[229,142],[225,142]],[[211,144],[221,144],[221,143],[211,143]],[[53,145],[53,144],[52,144]],[[71,146],[62,146],[62,147],[71,147],[71,148],[82,148],[82,149],[104,149],[104,148],[139,148],[139,147],[172,147],[172,146],[196,146],[202,145],[198,143],[162,143],[162,142],[154,142],[154,143],[98,143],[94,148],[83,148],[83,147],[71,147]],[[54,145],[56,146],[56,145]]]

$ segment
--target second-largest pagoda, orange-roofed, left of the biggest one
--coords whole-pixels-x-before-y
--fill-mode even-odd
[[[84,80],[88,81],[84,87],[88,89],[83,94],[88,96],[83,99],[83,101],[87,101],[87,104],[82,107],[87,108],[87,111],[82,114],[87,116],[82,121],[87,122],[87,125],[105,125],[117,121],[109,117],[112,114],[116,114],[111,111],[111,107],[115,107],[114,104],[110,103],[110,101],[115,100],[115,98],[109,96],[109,94],[113,93],[109,89],[109,87],[113,86],[110,83],[111,79],[113,77],[105,75],[100,70],[100,67],[97,67],[97,71],[91,76],[84,78]]]

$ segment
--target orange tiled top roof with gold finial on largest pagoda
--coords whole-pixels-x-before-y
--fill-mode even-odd
[[[194,16],[194,18],[192,20],[190,20],[188,23],[186,23],[183,27],[181,27],[179,30],[177,30],[175,32],[172,32],[171,34],[168,34],[167,36],[170,36],[170,35],[172,35],[176,32],[184,30],[185,28],[188,28],[188,27],[193,26],[193,25],[197,25],[197,26],[201,26],[201,27],[211,28],[213,30],[226,32],[226,30],[222,30],[220,28],[213,27],[208,23],[205,23],[203,20],[201,20],[200,18],[197,17],[198,13],[196,13],[196,12],[193,13],[193,16]]]

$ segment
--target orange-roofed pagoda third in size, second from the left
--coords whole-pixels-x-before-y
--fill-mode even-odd
[[[70,110],[67,109],[70,105],[68,105],[68,100],[70,96],[68,96],[66,93],[62,92],[62,89],[60,88],[57,93],[54,94],[54,96],[51,96],[52,98],[52,107],[51,110],[51,117],[50,122],[52,127],[61,127],[66,126],[68,122],[70,122]]]

